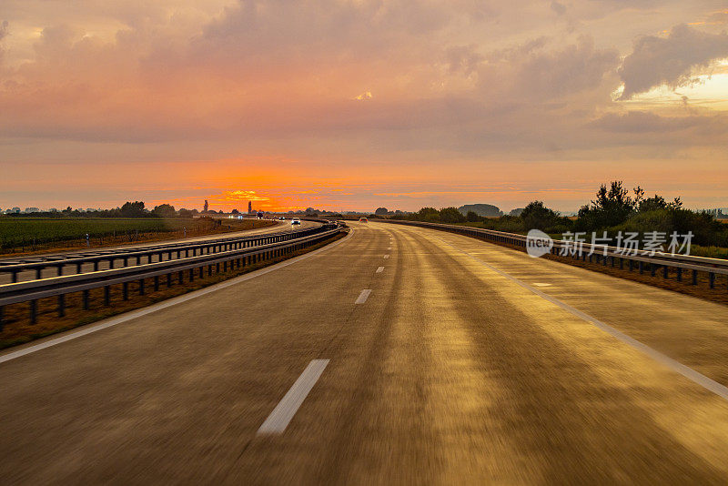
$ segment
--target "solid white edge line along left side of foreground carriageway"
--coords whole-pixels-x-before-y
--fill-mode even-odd
[[[275,265],[271,265],[270,267],[260,268],[259,270],[255,270],[248,274],[241,275],[240,277],[230,278],[229,280],[225,280],[225,281],[217,283],[215,285],[211,285],[209,287],[206,287],[205,289],[195,290],[194,292],[189,292],[187,294],[183,294],[178,297],[173,297],[172,299],[164,300],[162,302],[159,302],[158,304],[153,304],[151,306],[148,306],[148,307],[145,307],[142,309],[132,310],[130,312],[126,312],[125,314],[121,314],[119,316],[116,316],[116,317],[113,317],[110,319],[104,319],[104,320],[97,322],[96,324],[89,324],[89,325],[85,326],[84,329],[72,332],[72,333],[67,334],[66,336],[62,336],[60,338],[49,339],[45,342],[32,344],[23,349],[17,349],[15,351],[7,352],[3,355],[0,355],[0,363],[4,363],[5,361],[10,361],[11,359],[20,358],[22,356],[34,353],[36,351],[40,351],[41,349],[47,349],[52,346],[56,346],[58,344],[69,341],[71,339],[76,339],[76,338],[80,338],[82,336],[86,336],[87,334],[91,334],[92,332],[96,332],[96,331],[99,331],[102,329],[116,326],[117,324],[121,324],[128,320],[140,318],[142,316],[147,316],[148,314],[151,314],[152,312],[157,312],[158,310],[167,309],[169,307],[176,306],[177,304],[181,304],[182,302],[187,302],[187,300],[197,299],[198,297],[205,296],[209,293],[215,292],[220,289],[227,289],[227,287],[237,285],[238,283],[242,283],[251,278],[260,277],[261,275],[265,275],[272,271],[278,270],[279,268],[288,267],[288,265],[293,265],[294,263],[302,261],[306,258],[313,257],[314,255],[317,255],[322,251],[339,246],[341,243],[343,243],[344,241],[351,238],[351,236],[353,234],[354,234],[354,229],[351,228],[351,230],[349,231],[349,235],[347,235],[344,238],[339,239],[339,241],[334,241],[333,243],[325,246],[324,248],[315,249],[315,250],[311,251],[310,253],[301,255],[300,257],[290,258],[286,261],[282,261]]]

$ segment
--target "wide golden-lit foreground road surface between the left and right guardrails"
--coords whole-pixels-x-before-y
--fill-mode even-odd
[[[728,479],[728,401],[513,278],[725,384],[724,306],[448,233],[352,226],[295,263],[0,363],[0,477]],[[319,359],[286,429],[258,433]]]

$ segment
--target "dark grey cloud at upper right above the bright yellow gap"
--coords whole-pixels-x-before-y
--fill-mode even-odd
[[[728,34],[709,34],[688,25],[676,25],[670,35],[645,35],[624,58],[619,74],[624,83],[622,99],[665,84],[684,86],[693,69],[710,66],[728,56]]]

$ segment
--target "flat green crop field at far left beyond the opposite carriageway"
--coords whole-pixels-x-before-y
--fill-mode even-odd
[[[258,228],[265,221],[212,218],[0,218],[0,254],[100,247]]]

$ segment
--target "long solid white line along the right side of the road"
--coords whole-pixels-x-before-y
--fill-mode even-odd
[[[486,263],[480,258],[475,257],[474,255],[471,255],[469,252],[456,247],[455,245],[451,244],[448,241],[445,241],[444,239],[433,237],[436,239],[440,239],[443,243],[446,245],[449,245],[452,248],[457,249],[460,251],[460,253],[463,253],[467,255],[468,257],[476,260],[481,265],[490,268],[494,272],[501,275],[501,277],[505,277],[510,279],[512,282],[520,285],[523,289],[529,290],[532,293],[536,294],[537,296],[541,297],[542,299],[546,299],[552,304],[560,307],[561,309],[566,310],[567,312],[570,312],[573,316],[576,316],[582,320],[585,320],[586,322],[589,322],[591,325],[598,329],[602,329],[602,331],[606,332],[607,334],[611,335],[613,338],[621,340],[623,343],[631,346],[634,349],[637,349],[639,351],[642,351],[642,353],[646,354],[650,358],[654,359],[655,361],[661,363],[662,365],[668,367],[669,369],[676,371],[677,373],[681,374],[683,377],[687,378],[688,380],[693,381],[693,383],[696,383],[700,386],[702,386],[705,390],[713,391],[716,395],[723,398],[723,400],[728,400],[728,387],[723,386],[722,384],[718,383],[715,380],[711,380],[710,378],[706,377],[702,373],[699,373],[698,371],[693,370],[692,368],[689,368],[685,365],[683,365],[680,361],[676,359],[672,359],[669,356],[662,354],[657,349],[652,349],[646,344],[642,343],[641,341],[638,341],[637,339],[634,339],[626,334],[624,334],[622,331],[612,328],[609,324],[602,322],[599,319],[592,318],[589,314],[586,314],[582,312],[579,309],[575,309],[571,307],[569,304],[565,302],[561,302],[561,300],[556,299],[555,297],[551,297],[548,294],[545,294],[541,292],[541,290],[534,289],[529,284],[523,282],[522,280],[512,277],[508,273],[502,271],[499,268],[493,267],[490,265],[490,263]]]

